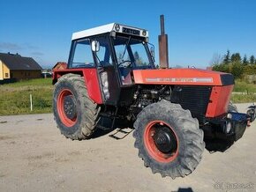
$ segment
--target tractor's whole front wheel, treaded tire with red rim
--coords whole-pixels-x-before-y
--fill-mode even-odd
[[[205,148],[203,131],[189,110],[162,100],[145,107],[134,122],[134,146],[152,172],[184,177],[200,163]]]

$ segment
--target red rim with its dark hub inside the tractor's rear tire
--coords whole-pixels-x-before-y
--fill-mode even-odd
[[[76,100],[68,89],[62,90],[57,98],[57,112],[61,122],[66,127],[72,127],[77,122]]]

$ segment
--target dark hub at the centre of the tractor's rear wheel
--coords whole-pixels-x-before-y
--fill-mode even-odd
[[[69,119],[74,119],[77,115],[76,101],[72,95],[64,97],[64,114]]]

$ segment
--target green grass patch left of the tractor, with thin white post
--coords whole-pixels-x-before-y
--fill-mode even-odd
[[[52,90],[51,78],[0,85],[0,115],[50,113]],[[30,110],[30,94],[33,98],[33,111]]]

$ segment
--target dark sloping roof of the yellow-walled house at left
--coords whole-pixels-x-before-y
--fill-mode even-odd
[[[41,70],[41,66],[31,57],[0,53],[0,60],[9,70]]]

